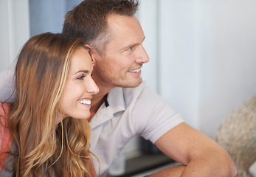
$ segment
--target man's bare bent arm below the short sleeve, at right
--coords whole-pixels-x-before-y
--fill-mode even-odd
[[[151,177],[232,177],[237,173],[235,164],[223,147],[186,123],[172,128],[155,144],[163,153],[184,166],[171,167]]]

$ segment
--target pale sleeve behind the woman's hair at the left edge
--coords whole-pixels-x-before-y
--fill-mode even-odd
[[[14,72],[15,64],[8,69],[0,72],[0,102],[13,102],[15,97],[14,92]]]

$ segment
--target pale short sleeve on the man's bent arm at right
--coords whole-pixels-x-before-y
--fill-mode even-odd
[[[134,105],[134,127],[145,139],[155,143],[184,120],[154,91],[144,86]]]

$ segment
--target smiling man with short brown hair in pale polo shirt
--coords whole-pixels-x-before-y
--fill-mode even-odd
[[[235,176],[229,154],[187,125],[140,77],[148,55],[132,0],[86,0],[66,14],[63,33],[83,38],[100,92],[91,100],[91,151],[105,176],[122,147],[136,134],[184,164],[153,176]],[[96,170],[97,161],[94,162]]]

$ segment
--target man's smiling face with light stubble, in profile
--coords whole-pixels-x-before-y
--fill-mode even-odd
[[[94,55],[94,80],[107,88],[136,87],[142,82],[142,64],[148,54],[142,46],[145,39],[138,19],[126,15],[109,15],[110,41],[102,55]]]

